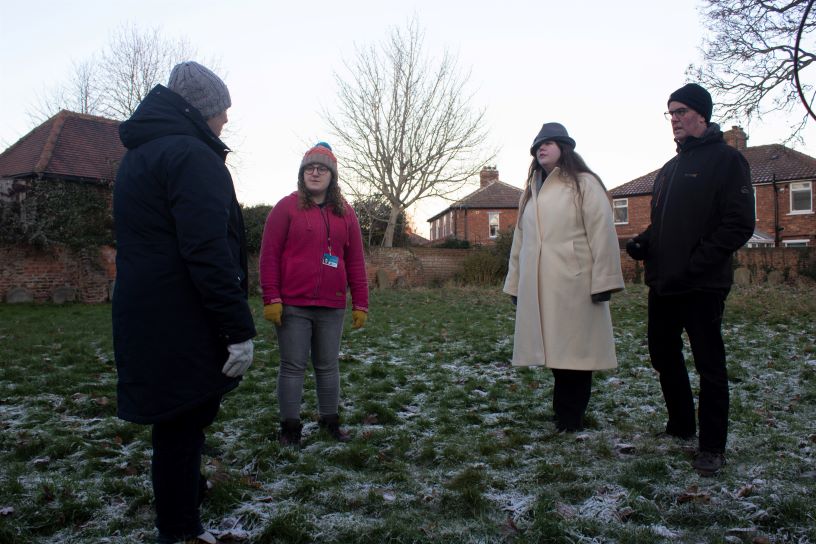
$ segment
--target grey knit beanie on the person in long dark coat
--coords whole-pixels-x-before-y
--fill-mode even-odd
[[[229,89],[221,78],[197,62],[176,64],[167,88],[181,95],[204,119],[215,117],[232,106]]]

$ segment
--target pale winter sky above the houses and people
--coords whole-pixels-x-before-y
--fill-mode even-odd
[[[487,111],[485,149],[500,149],[502,181],[523,184],[533,137],[542,123],[559,121],[611,188],[674,153],[662,113],[699,60],[698,8],[694,0],[0,0],[0,148],[33,128],[27,112],[36,96],[69,79],[72,62],[100,52],[112,31],[158,26],[167,38],[188,39],[200,53],[194,60],[217,60],[233,101],[225,140],[238,198],[274,204],[295,189],[303,152],[332,140],[321,111],[336,104],[333,73],[344,73],[356,46],[384,40],[416,15],[426,52],[447,49],[471,70],[473,105]],[[713,120],[722,121],[716,97]],[[788,124],[754,121],[744,127],[749,145],[780,142]],[[798,147],[810,155],[813,130]],[[477,187],[474,179],[460,196]],[[417,231],[427,235],[427,218],[447,205],[412,210]]]

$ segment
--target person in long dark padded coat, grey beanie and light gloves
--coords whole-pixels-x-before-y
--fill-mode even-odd
[[[118,415],[153,426],[158,542],[215,542],[199,519],[204,428],[252,362],[244,222],[219,139],[229,91],[177,65],[119,127],[113,191]]]

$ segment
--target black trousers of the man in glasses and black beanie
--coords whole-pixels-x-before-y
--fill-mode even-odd
[[[660,374],[669,413],[666,432],[675,436],[696,432],[694,396],[683,358],[685,329],[700,375],[700,450],[717,453],[725,451],[728,435],[728,372],[721,330],[724,308],[724,294],[660,296],[649,291],[649,355]]]

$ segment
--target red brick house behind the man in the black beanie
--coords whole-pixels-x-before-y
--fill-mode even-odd
[[[748,247],[816,245],[813,188],[816,159],[784,145],[748,147],[740,127],[726,131],[725,141],[739,149],[751,165],[756,197],[756,229]],[[659,170],[609,191],[618,238],[627,240],[650,222],[652,186]]]

